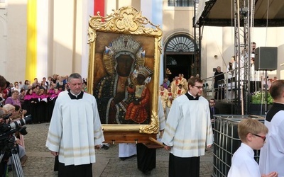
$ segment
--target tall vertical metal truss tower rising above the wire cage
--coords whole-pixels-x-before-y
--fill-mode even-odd
[[[249,114],[251,74],[251,28],[255,0],[234,0],[235,56],[238,61],[236,108],[241,115]],[[243,24],[243,25],[241,25]],[[244,47],[241,50],[241,47]]]

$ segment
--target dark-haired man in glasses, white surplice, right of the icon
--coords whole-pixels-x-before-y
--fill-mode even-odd
[[[200,176],[200,156],[211,147],[213,132],[209,103],[202,97],[203,82],[188,80],[188,92],[175,98],[162,138],[170,151],[169,176]]]

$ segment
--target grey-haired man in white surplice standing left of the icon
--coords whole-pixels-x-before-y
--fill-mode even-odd
[[[45,146],[58,156],[58,176],[92,176],[95,149],[104,135],[94,96],[82,92],[82,77],[68,77],[68,91],[62,91],[53,110]]]

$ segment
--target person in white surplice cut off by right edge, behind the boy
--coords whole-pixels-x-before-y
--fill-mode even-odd
[[[261,173],[278,172],[284,176],[284,81],[274,81],[269,90],[273,105],[266,114],[264,124],[268,127],[266,144],[261,148],[259,168]]]

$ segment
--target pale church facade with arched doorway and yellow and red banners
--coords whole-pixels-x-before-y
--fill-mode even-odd
[[[195,73],[193,0],[1,0],[0,74],[9,81],[33,81],[43,76],[72,72],[87,78],[89,62],[89,17],[108,16],[122,6],[133,6],[163,30],[160,82],[167,74],[188,79],[214,75],[214,68],[226,66],[234,55],[234,27],[202,28],[200,69]],[[278,69],[269,76],[283,79],[284,28],[253,28],[251,41],[257,47],[278,47]],[[167,72],[166,72],[167,71]]]

